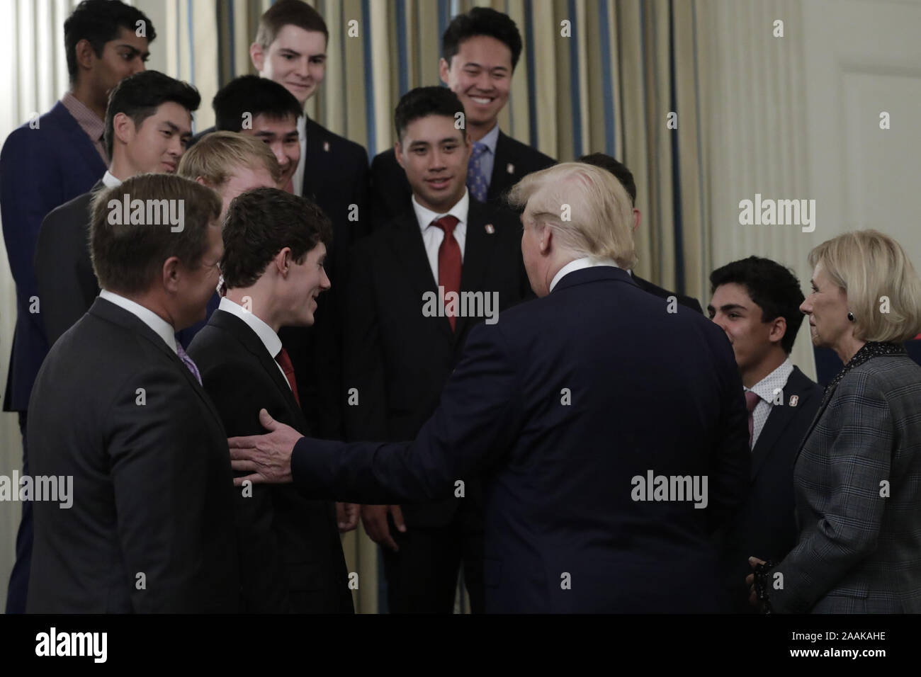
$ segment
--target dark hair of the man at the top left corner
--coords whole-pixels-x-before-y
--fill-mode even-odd
[[[157,31],[146,14],[136,7],[125,5],[119,0],[83,0],[73,13],[64,20],[64,52],[67,53],[67,74],[70,82],[76,83],[79,69],[76,65],[76,43],[89,41],[98,57],[106,42],[118,38],[122,29],[137,31],[137,22],[144,21],[147,42],[153,42]]]

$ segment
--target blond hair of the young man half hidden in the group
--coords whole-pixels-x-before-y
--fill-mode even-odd
[[[269,146],[253,136],[236,132],[205,134],[182,156],[176,173],[192,181],[201,177],[207,186],[218,190],[239,167],[267,169],[275,183],[282,178],[278,160]]]

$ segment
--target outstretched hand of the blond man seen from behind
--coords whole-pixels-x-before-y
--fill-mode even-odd
[[[293,427],[278,423],[264,409],[259,410],[259,422],[269,431],[267,434],[227,439],[230,467],[251,473],[235,477],[233,483],[239,486],[247,480],[253,484],[291,482],[291,452],[304,436]]]

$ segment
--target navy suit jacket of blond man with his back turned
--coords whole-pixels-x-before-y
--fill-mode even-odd
[[[292,473],[363,503],[431,500],[484,473],[488,612],[717,611],[710,531],[749,475],[741,393],[715,324],[589,268],[474,327],[414,442],[302,438]],[[647,472],[707,476],[706,508],[635,500]]]

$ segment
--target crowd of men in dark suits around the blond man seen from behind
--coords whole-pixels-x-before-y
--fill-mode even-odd
[[[226,438],[261,432],[261,408],[314,437],[414,438],[483,321],[429,317],[424,295],[497,292],[501,310],[533,298],[518,218],[501,198],[554,159],[496,122],[522,49],[514,22],[483,8],[451,21],[439,62],[448,87],[402,97],[396,143],[370,168],[362,146],[303,113],[329,32],[299,0],[263,15],[251,46],[259,76],[222,88],[216,128],[193,142],[199,95],[144,70],[156,32],[141,12],[86,0],[64,33],[71,91],[0,155],[17,282],[4,410],[19,412],[23,473],[74,475],[79,505],[62,517],[37,503],[33,549],[24,504],[7,610],[349,613],[338,533],[360,510],[382,546],[391,611],[448,613],[460,570],[483,611],[477,478],[462,496],[403,507],[309,500],[291,486],[247,494],[232,489]],[[580,160],[635,201],[621,163]],[[184,200],[185,230],[113,228],[105,198],[122,193]],[[701,312],[627,274],[663,304]],[[777,487],[790,484],[818,387],[786,359],[801,321],[789,310],[802,300],[786,269],[746,260],[711,281],[752,431],[751,496],[714,536],[729,598],[745,573],[738,553],[779,559],[794,544],[792,496]]]

